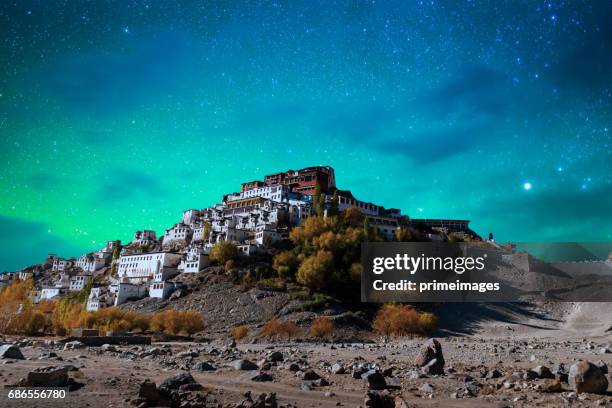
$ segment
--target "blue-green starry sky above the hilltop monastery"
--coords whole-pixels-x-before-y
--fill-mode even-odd
[[[610,241],[610,21],[579,0],[2,1],[0,271],[318,164],[498,241]]]

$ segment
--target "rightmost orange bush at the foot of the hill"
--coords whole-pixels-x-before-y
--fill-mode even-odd
[[[419,313],[412,306],[386,304],[373,322],[374,331],[384,336],[428,334],[437,329],[438,319],[432,313]]]

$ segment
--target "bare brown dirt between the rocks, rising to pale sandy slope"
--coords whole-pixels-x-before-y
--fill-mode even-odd
[[[366,382],[353,378],[360,367],[385,370],[391,395],[403,397],[408,407],[612,407],[612,387],[607,395],[576,394],[567,383],[546,392],[545,380],[525,379],[525,372],[544,365],[556,372],[579,360],[612,364],[610,304],[568,304],[544,314],[515,311],[513,318],[482,319],[469,334],[442,332],[445,374],[424,375],[414,358],[426,339],[391,339],[373,343],[258,343],[233,347],[227,339],[210,343],[153,343],[150,346],[116,346],[116,350],[83,347],[64,350],[43,339],[22,340],[25,360],[0,360],[0,406],[6,407],[128,407],[134,406],[140,384],[159,384],[174,374],[189,371],[204,389],[206,406],[235,407],[244,393],[276,393],[279,406],[365,406]],[[492,312],[494,313],[494,312]],[[501,313],[497,311],[495,313]],[[505,311],[508,316],[508,310]],[[520,317],[519,317],[520,316]],[[448,318],[448,316],[447,316]],[[10,339],[5,339],[10,340]],[[45,353],[53,352],[57,357]],[[271,361],[272,352],[283,361]],[[266,361],[266,357],[268,360]],[[229,363],[247,359],[263,370],[237,370]],[[264,360],[264,361],[262,361]],[[208,362],[214,371],[199,371]],[[266,364],[267,363],[267,364]],[[335,374],[334,364],[346,373]],[[63,400],[9,400],[10,388],[36,367],[70,364],[79,384]],[[266,365],[268,367],[266,367]],[[291,367],[293,365],[293,367]],[[315,371],[329,385],[303,379]],[[497,370],[499,375],[490,374]],[[254,381],[267,373],[269,381]]]

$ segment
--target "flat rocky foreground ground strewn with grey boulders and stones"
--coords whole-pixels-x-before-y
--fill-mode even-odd
[[[605,333],[535,329],[529,337],[524,329],[497,323],[489,337],[353,344],[84,347],[5,339],[14,347],[0,349],[0,406],[612,407]],[[579,361],[592,364],[573,366]],[[8,386],[32,381],[72,390],[65,400],[7,399]]]

